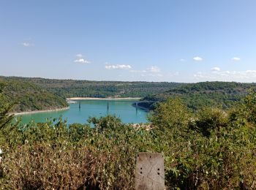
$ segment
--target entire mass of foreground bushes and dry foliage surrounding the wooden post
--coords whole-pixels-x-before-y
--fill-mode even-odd
[[[169,98],[148,130],[112,115],[68,127],[61,118],[23,125],[12,120],[3,87],[1,189],[134,189],[139,152],[162,153],[166,189],[256,189],[255,91],[228,110],[196,113]]]

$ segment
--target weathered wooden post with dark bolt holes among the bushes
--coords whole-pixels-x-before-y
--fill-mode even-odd
[[[135,189],[165,189],[165,168],[162,153],[138,153]]]

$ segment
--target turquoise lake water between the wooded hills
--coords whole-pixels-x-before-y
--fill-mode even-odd
[[[54,111],[48,113],[32,113],[19,115],[22,123],[45,122],[47,119],[67,118],[67,123],[87,123],[87,119],[91,117],[101,117],[105,115],[116,115],[121,118],[124,123],[146,123],[147,112],[139,108],[133,107],[134,100],[80,100],[74,104],[69,104],[69,110]]]

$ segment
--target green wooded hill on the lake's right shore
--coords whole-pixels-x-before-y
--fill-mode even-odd
[[[164,93],[145,96],[143,100],[156,102],[165,101],[169,97],[178,96],[192,110],[200,107],[222,107],[228,109],[244,98],[249,88],[255,88],[255,83],[235,82],[203,82],[192,83],[170,89]],[[143,103],[140,106],[154,110],[156,103]]]

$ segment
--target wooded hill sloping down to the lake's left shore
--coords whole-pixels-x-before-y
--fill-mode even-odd
[[[53,110],[68,106],[65,99],[33,83],[23,80],[4,80],[4,83],[6,102],[15,104],[12,112]]]

